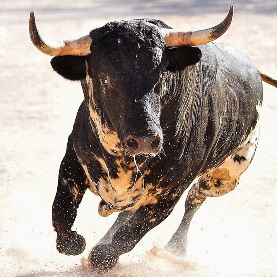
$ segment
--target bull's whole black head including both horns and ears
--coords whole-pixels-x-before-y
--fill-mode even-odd
[[[40,51],[54,56],[55,71],[81,80],[94,128],[106,148],[120,141],[130,155],[155,154],[163,145],[164,73],[196,64],[201,51],[192,46],[218,38],[231,19],[232,7],[222,23],[206,30],[184,32],[158,20],[126,20],[108,23],[78,40],[46,42],[31,12],[30,37]],[[117,139],[107,139],[109,134]]]

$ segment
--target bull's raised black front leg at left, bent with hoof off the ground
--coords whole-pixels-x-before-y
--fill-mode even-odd
[[[71,137],[59,170],[56,197],[52,207],[53,227],[57,232],[57,250],[66,255],[78,255],[85,249],[85,239],[71,227],[77,208],[88,187],[88,181],[73,149]]]

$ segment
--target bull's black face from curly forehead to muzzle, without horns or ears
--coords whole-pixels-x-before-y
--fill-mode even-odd
[[[153,24],[141,20],[110,23],[90,35],[93,105],[116,131],[126,153],[158,153],[163,144],[163,37]]]

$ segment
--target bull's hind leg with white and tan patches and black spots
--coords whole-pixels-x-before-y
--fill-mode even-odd
[[[187,248],[189,224],[196,210],[208,196],[221,196],[232,191],[239,183],[240,175],[251,163],[259,137],[258,126],[250,133],[239,148],[219,167],[203,174],[190,189],[182,222],[166,245],[173,254],[184,256]]]

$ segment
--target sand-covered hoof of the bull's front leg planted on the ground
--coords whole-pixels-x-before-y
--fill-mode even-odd
[[[116,265],[119,255],[114,254],[109,244],[99,244],[91,250],[88,262],[98,272],[108,271]]]

